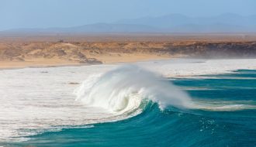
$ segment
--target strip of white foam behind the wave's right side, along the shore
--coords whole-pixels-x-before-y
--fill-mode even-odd
[[[160,60],[140,62],[138,65],[164,77],[192,77],[206,74],[232,73],[234,70],[256,69],[256,59],[230,60]]]

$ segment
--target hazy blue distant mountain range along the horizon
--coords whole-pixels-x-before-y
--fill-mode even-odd
[[[256,32],[256,15],[227,13],[213,17],[189,17],[180,14],[140,19],[123,19],[113,23],[95,23],[69,28],[9,29],[2,32]]]

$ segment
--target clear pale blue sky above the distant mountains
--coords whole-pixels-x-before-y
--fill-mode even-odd
[[[179,13],[255,15],[256,0],[0,0],[0,30],[68,27]]]

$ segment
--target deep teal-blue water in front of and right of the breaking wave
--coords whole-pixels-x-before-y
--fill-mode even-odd
[[[161,111],[157,104],[149,102],[143,113],[123,121],[45,132],[29,136],[26,142],[5,145],[256,146],[256,110],[249,108],[256,105],[256,70],[169,80],[201,104],[244,104],[244,108],[211,111],[169,107]]]

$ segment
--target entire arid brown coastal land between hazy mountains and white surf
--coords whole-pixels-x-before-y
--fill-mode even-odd
[[[254,58],[256,34],[0,34],[0,68]]]

